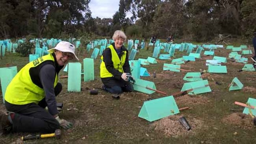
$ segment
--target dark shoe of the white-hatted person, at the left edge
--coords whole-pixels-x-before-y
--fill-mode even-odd
[[[6,135],[12,132],[12,123],[8,117],[9,114],[0,112],[0,135]]]

